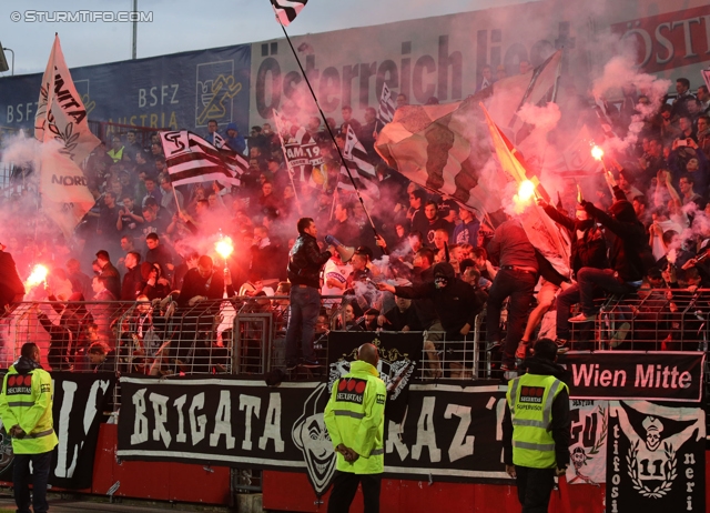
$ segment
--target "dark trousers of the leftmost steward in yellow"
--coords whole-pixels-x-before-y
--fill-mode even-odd
[[[18,513],[30,513],[30,461],[32,462],[32,510],[34,513],[45,513],[47,481],[49,466],[52,463],[52,451],[41,454],[16,454],[12,469],[14,487],[14,503]]]

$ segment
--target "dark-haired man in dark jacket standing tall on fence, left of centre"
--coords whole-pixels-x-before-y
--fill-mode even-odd
[[[301,218],[296,224],[298,238],[288,254],[291,306],[286,329],[286,366],[297,365],[298,334],[305,365],[317,365],[313,352],[315,321],[321,311],[321,269],[331,259],[331,252],[321,253],[316,237],[318,230],[311,218]]]

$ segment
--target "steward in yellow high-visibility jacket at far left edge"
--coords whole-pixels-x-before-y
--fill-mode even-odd
[[[52,449],[58,443],[52,421],[52,379],[40,365],[40,350],[33,342],[22,345],[10,365],[0,394],[0,418],[12,437],[12,480],[18,513],[30,513],[30,462],[32,462],[32,510],[44,513],[47,481]]]

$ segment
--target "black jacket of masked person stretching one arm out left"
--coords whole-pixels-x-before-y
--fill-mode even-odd
[[[476,315],[484,308],[475,289],[455,276],[450,263],[440,262],[434,265],[434,276],[438,274],[444,274],[448,281],[443,289],[437,289],[434,281],[427,281],[414,286],[395,286],[395,294],[407,299],[432,299],[442,325],[449,335],[458,334],[464,324],[473,329]]]

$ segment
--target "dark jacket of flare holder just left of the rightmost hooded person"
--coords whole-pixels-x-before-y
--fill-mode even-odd
[[[594,219],[588,221],[571,219],[551,205],[545,207],[545,213],[557,224],[565,227],[569,232],[571,240],[569,265],[575,274],[577,274],[577,271],[581,268],[607,269],[609,266],[609,261],[607,260],[607,242]],[[591,227],[587,224],[591,224]],[[578,230],[584,231],[581,239],[578,237]]]

